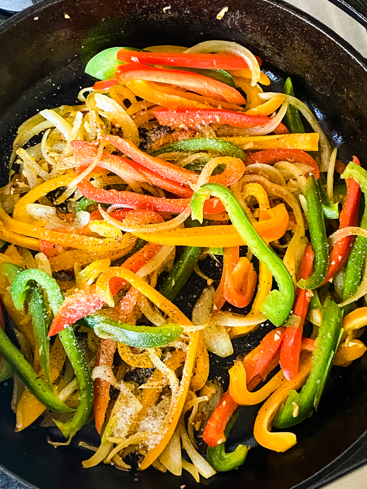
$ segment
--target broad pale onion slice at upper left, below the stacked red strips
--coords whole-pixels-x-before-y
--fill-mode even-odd
[[[99,114],[110,119],[112,124],[120,126],[125,139],[139,145],[140,138],[138,128],[121,105],[101,93],[95,93],[94,100]]]

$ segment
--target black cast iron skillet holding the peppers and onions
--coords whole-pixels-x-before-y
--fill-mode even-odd
[[[362,22],[364,5],[351,9],[334,0]],[[356,2],[357,4],[357,2]],[[171,8],[163,10],[170,5]],[[286,3],[273,0],[232,0],[222,20],[217,0],[43,0],[0,28],[0,183],[7,181],[7,161],[16,127],[37,110],[73,104],[81,87],[90,86],[83,66],[96,52],[114,45],[144,47],[153,44],[193,45],[206,39],[235,40],[264,59],[264,69],[277,89],[286,75],[297,95],[314,108],[339,158],[353,154],[367,166],[366,61],[328,28]],[[365,7],[366,8],[366,7]],[[66,17],[67,16],[67,17]],[[365,23],[365,25],[367,25]],[[324,118],[325,115],[325,118]],[[215,270],[211,270],[213,273]],[[191,283],[178,299],[187,313],[195,288]],[[187,299],[189,297],[189,300]],[[191,304],[192,305],[192,304]],[[249,351],[269,330],[236,343],[234,357]],[[214,375],[228,377],[234,357],[212,359]],[[152,469],[123,473],[110,466],[84,470],[81,461],[90,452],[79,440],[96,444],[92,424],[70,447],[55,450],[55,430],[37,424],[14,434],[9,409],[11,383],[0,386],[0,464],[40,489],[178,488],[197,487],[189,475],[176,478]],[[225,386],[226,387],[226,386]],[[355,453],[367,434],[367,356],[351,367],[335,367],[317,414],[295,427],[298,444],[285,454],[260,447],[252,437],[256,408],[243,409],[229,448],[246,442],[246,464],[237,471],[217,474],[202,484],[210,489],[312,488]],[[241,428],[242,426],[242,428]]]

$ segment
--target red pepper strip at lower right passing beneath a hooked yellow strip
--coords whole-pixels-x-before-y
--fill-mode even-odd
[[[252,391],[279,363],[280,348],[286,328],[281,327],[270,331],[243,360],[246,370],[246,385]],[[302,339],[302,349],[313,351],[315,342],[310,338]],[[210,447],[216,447],[225,441],[224,429],[237,409],[228,390],[222,396],[219,404],[210,416],[203,433],[204,441]]]

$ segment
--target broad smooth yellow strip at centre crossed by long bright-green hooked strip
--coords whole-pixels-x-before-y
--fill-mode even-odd
[[[210,199],[214,200],[214,199]],[[207,201],[208,202],[208,201]],[[204,207],[205,211],[205,207]],[[256,232],[270,243],[280,239],[287,231],[289,215],[284,204],[268,210],[270,219],[253,223]],[[184,228],[159,233],[134,233],[138,238],[159,245],[225,247],[246,245],[245,239],[232,226],[205,226]]]

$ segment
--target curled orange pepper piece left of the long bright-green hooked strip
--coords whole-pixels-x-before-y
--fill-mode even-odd
[[[257,274],[246,256],[239,257],[239,246],[223,248],[224,299],[236,307],[246,307],[254,295]]]

